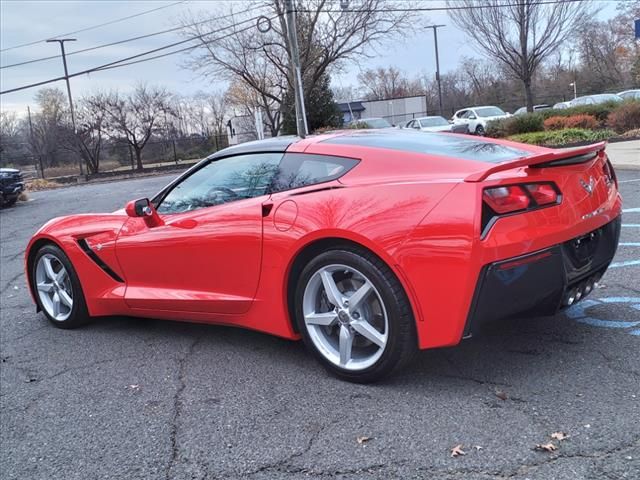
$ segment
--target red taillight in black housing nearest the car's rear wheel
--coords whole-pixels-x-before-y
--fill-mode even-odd
[[[485,188],[482,192],[482,237],[487,234],[495,220],[503,215],[557,205],[561,198],[560,190],[553,182]]]

